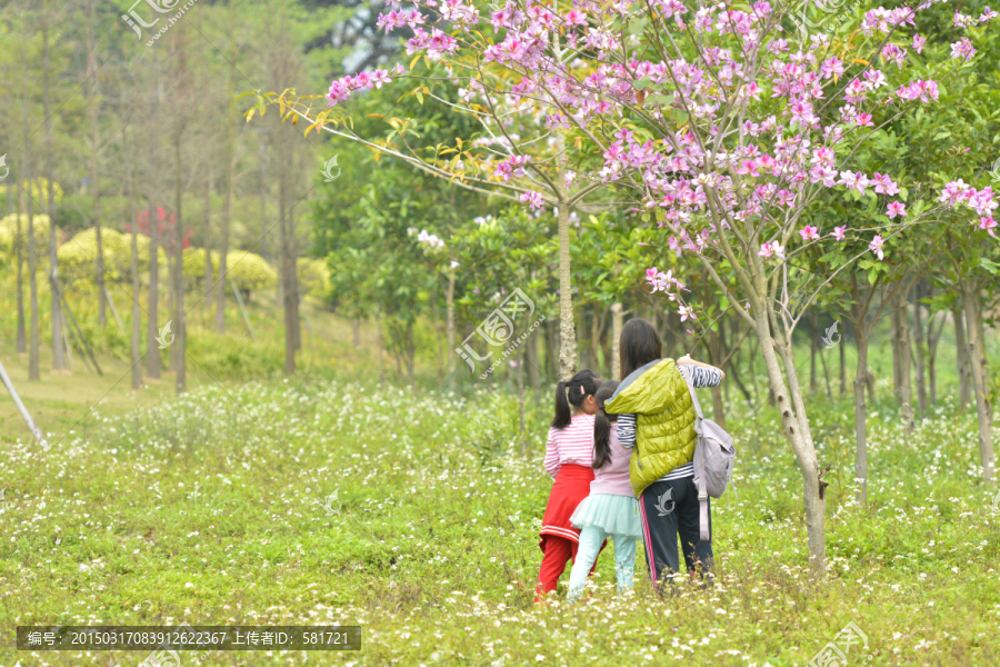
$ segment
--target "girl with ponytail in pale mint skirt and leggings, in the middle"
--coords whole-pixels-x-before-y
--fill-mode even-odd
[[[629,458],[632,451],[618,444],[618,415],[604,411],[618,388],[618,382],[601,385],[594,399],[598,412],[593,427],[594,479],[590,495],[577,506],[570,522],[580,528],[580,545],[573,569],[570,571],[568,600],[576,601],[587,583],[601,545],[608,537],[614,541],[614,570],[618,591],[632,588],[632,570],[636,566],[636,541],[641,539],[639,505],[629,482]]]

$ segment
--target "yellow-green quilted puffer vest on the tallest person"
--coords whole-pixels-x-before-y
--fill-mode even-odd
[[[694,404],[673,359],[660,359],[632,372],[604,409],[614,415],[637,415],[636,450],[629,461],[636,497],[694,459]]]

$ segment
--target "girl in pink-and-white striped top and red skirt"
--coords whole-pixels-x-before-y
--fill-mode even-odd
[[[580,529],[570,524],[570,517],[593,481],[593,416],[598,411],[593,395],[599,386],[600,378],[591,370],[556,386],[556,417],[546,445],[546,472],[554,482],[538,544],[544,556],[534,601],[556,590],[566,564],[577,557]]]

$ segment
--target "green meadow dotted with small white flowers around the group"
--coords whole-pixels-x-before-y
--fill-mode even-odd
[[[714,588],[660,601],[642,584],[616,599],[606,557],[583,604],[537,608],[548,404],[528,401],[527,458],[508,394],[319,376],[206,385],[118,416],[98,409],[87,438],[48,452],[4,447],[0,664],[144,657],[16,654],[17,625],[181,620],[364,626],[360,653],[216,653],[210,665],[778,667],[804,664],[849,621],[870,664],[1000,661],[1000,516],[978,481],[970,416],[944,405],[908,436],[876,408],[862,508],[848,406],[812,415],[838,472],[829,578],[817,584],[776,422],[733,415],[739,500],[714,507]]]

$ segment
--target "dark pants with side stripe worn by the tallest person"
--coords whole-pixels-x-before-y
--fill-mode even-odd
[[[698,489],[693,477],[654,481],[639,497],[642,521],[642,541],[646,563],[653,585],[679,573],[677,537],[680,535],[684,565],[689,571],[701,567],[701,573],[712,569],[712,542],[702,541],[699,520]],[[709,530],[712,526],[711,499],[709,500]]]

